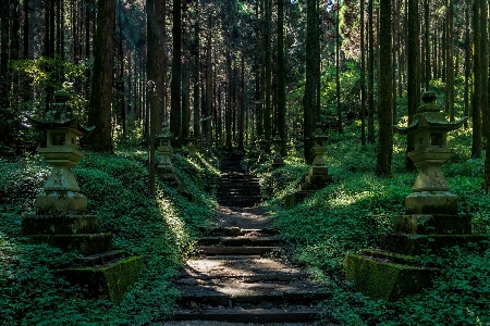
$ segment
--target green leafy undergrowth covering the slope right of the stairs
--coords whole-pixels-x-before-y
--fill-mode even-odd
[[[322,303],[327,318],[341,325],[488,325],[490,323],[490,250],[451,248],[444,255],[421,258],[441,268],[434,286],[396,302],[375,301],[346,281],[347,253],[377,248],[379,235],[392,229],[391,216],[404,213],[416,174],[404,170],[404,138],[395,136],[393,177],[373,175],[373,146],[360,149],[356,126],[332,134],[324,154],[333,183],[292,209],[283,206],[307,173],[298,158],[273,172],[257,166],[266,205],[281,236],[295,248],[294,260],[323,283],[332,298]],[[450,134],[453,159],[443,166],[461,213],[473,217],[474,233],[490,234],[490,198],[481,190],[483,161],[469,159],[470,130]]]

